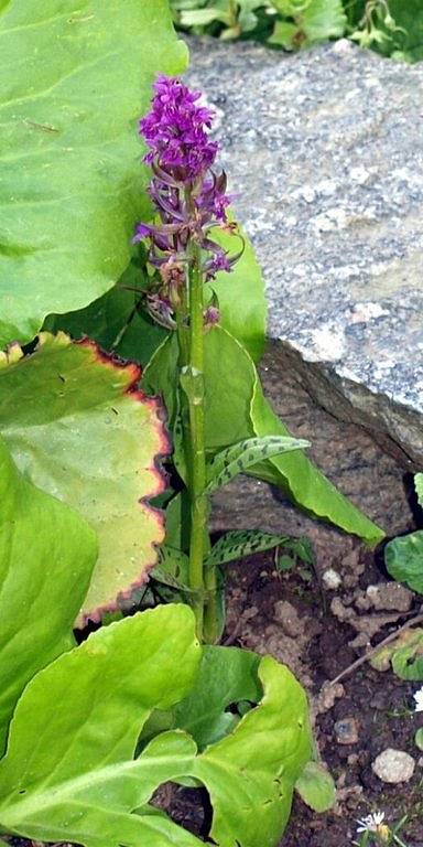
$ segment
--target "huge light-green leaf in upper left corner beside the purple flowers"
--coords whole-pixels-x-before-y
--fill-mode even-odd
[[[137,118],[187,52],[166,0],[10,0],[0,45],[1,345],[119,279],[149,216]]]

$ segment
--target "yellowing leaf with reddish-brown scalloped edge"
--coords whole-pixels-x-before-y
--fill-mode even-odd
[[[39,489],[96,529],[99,557],[79,624],[99,621],[147,581],[163,540],[149,500],[165,487],[163,410],[138,389],[141,368],[89,341],[42,333],[32,355],[0,362],[0,433]]]

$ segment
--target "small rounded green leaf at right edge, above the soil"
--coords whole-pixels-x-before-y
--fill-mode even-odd
[[[423,529],[389,542],[384,562],[393,579],[423,594]]]

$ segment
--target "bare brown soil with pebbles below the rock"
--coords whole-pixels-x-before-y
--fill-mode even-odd
[[[369,554],[362,553],[359,546],[356,553],[358,571],[364,564],[362,558],[366,559],[365,575],[358,580],[357,591],[358,588],[380,582],[383,577]],[[336,567],[343,573],[339,561]],[[350,576],[350,560],[347,573]],[[322,591],[315,575],[307,582],[297,575],[278,576],[270,555],[258,556],[242,568],[230,571],[229,622],[237,620],[247,608],[257,609],[257,614],[248,620],[242,639],[237,643],[259,653],[271,652],[290,665],[306,685],[314,711],[318,711],[318,694],[323,684],[362,653],[362,650],[356,651],[348,644],[357,635],[355,630],[330,613],[330,598],[335,593],[349,602],[351,590]],[[291,634],[292,621],[286,625],[275,620],[275,603],[280,600],[288,601],[297,611],[299,618]],[[419,611],[419,605],[415,611]],[[373,617],[377,614],[379,612],[375,612]],[[406,618],[400,617],[395,626],[404,620]],[[392,625],[382,628],[375,641],[380,641],[393,629]],[[347,845],[355,835],[356,818],[375,810],[384,811],[391,823],[406,814],[408,822],[401,837],[409,847],[422,847],[423,762],[417,764],[411,782],[402,785],[382,783],[371,770],[376,755],[388,747],[405,750],[419,761],[413,739],[415,730],[423,726],[423,716],[412,711],[412,695],[417,686],[402,682],[390,671],[380,674],[366,663],[343,679],[343,687],[344,695],[335,700],[333,708],[317,714],[315,722],[321,755],[336,779],[337,805],[333,812],[317,815],[301,800],[295,800],[283,847]],[[337,742],[334,725],[344,718],[356,721],[357,743]]]

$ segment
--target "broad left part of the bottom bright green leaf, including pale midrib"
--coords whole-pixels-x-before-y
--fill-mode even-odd
[[[42,671],[17,706],[0,763],[0,828],[87,847],[199,844],[165,816],[130,814],[192,765],[183,733],[159,739],[154,762],[132,757],[152,709],[189,691],[199,658],[191,610],[166,605],[100,629]]]

